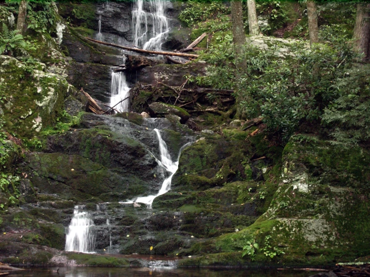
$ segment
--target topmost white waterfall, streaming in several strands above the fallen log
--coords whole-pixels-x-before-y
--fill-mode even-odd
[[[170,29],[165,14],[167,2],[165,0],[147,0],[145,2],[149,5],[149,13],[143,9],[144,0],[136,0],[135,8],[132,11],[134,45],[144,50],[160,51],[165,35]],[[152,23],[151,28],[150,23]]]

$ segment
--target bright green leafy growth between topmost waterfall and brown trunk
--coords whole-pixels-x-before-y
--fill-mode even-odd
[[[216,19],[220,14],[228,13],[230,13],[230,9],[221,2],[200,3],[198,1],[189,1],[187,8],[178,15],[178,18],[191,27],[208,19]]]

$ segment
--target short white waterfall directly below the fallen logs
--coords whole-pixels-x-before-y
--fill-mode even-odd
[[[129,90],[130,88],[127,85],[126,82],[126,76],[123,72],[112,72],[112,78],[111,78],[111,98],[110,98],[110,106],[113,107],[116,105],[119,101],[125,99],[127,96],[129,96]],[[117,106],[114,107],[114,109],[120,111],[120,112],[127,112],[128,111],[128,99],[121,102]]]

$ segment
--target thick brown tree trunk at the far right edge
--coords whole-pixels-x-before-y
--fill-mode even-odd
[[[370,4],[357,4],[353,48],[363,53],[363,60],[370,59]]]

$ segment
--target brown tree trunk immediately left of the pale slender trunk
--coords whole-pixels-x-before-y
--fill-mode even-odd
[[[245,44],[243,8],[241,0],[235,0],[231,2],[231,22],[233,24],[234,47],[238,52],[240,46]]]

